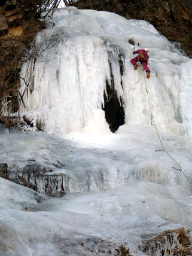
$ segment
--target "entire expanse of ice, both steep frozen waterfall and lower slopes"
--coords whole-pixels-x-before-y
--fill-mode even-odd
[[[67,175],[68,190],[53,198],[0,178],[1,255],[114,255],[125,243],[139,256],[146,255],[139,250],[144,239],[191,230],[192,185],[173,161],[192,181],[191,60],[143,20],[70,7],[48,14],[47,25],[36,36],[36,59],[21,73],[20,92],[29,86],[20,115],[34,127],[0,126],[0,163],[20,173],[34,160],[51,175]],[[129,39],[149,48],[150,80],[142,68],[134,71]],[[115,133],[102,110],[109,62],[125,112]],[[145,82],[173,159],[156,151],[162,148]]]

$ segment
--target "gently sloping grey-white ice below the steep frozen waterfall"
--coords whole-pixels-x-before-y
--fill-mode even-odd
[[[164,153],[154,152],[153,127],[88,141],[2,130],[1,162],[22,167],[35,159],[53,167],[59,161],[65,167],[55,172],[71,177],[71,193],[60,198],[0,179],[2,256],[114,255],[121,243],[132,255],[145,255],[138,249],[143,240],[191,229],[191,186]],[[164,136],[163,142],[190,176],[188,137]]]

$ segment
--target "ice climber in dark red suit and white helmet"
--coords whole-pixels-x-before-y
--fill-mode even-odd
[[[150,78],[150,69],[147,66],[147,62],[148,62],[148,59],[149,59],[149,56],[147,54],[148,51],[149,51],[148,48],[133,51],[133,54],[138,53],[138,56],[131,59],[130,62],[133,64],[135,70],[138,69],[138,67],[140,66],[139,63],[137,63],[137,62],[140,62],[142,64],[142,66],[144,67],[146,73],[147,73],[147,78]]]

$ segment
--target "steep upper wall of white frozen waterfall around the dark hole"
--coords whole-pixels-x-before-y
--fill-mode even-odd
[[[184,120],[185,132],[192,134],[190,106],[184,104],[190,85],[182,72],[190,59],[150,23],[74,7],[51,11],[46,23],[48,28],[36,36],[34,57],[21,74],[21,111],[33,126],[59,136],[73,131],[109,133],[102,106],[106,81],[111,80],[123,100],[125,124],[150,124],[145,72],[134,71],[130,63],[135,44],[136,49],[150,50],[151,78],[146,83],[157,125],[178,134]],[[181,92],[184,87],[186,93]]]

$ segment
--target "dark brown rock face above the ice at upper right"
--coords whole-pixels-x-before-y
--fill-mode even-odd
[[[92,5],[90,5],[90,2]],[[187,0],[80,0],[78,9],[110,11],[126,19],[146,20],[172,42],[181,43],[182,50],[192,57],[192,2]]]

